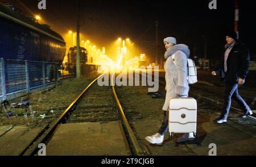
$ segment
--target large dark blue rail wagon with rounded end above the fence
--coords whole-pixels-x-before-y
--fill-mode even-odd
[[[63,62],[65,41],[49,26],[0,4],[0,57]]]

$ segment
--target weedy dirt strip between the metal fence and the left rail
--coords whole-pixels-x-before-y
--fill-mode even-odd
[[[8,101],[0,112],[0,126],[42,127],[53,122],[96,76],[66,79],[51,90]],[[29,102],[30,105],[20,105]],[[6,114],[8,113],[8,114]]]

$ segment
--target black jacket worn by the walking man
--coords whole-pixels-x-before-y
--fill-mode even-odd
[[[225,51],[228,45],[225,45]],[[228,60],[226,62],[227,72],[224,73],[224,56],[222,58],[221,68],[216,69],[216,72],[221,73],[221,78],[227,82],[238,83],[238,78],[245,80],[250,66],[250,53],[245,44],[237,41],[231,51],[229,52]]]

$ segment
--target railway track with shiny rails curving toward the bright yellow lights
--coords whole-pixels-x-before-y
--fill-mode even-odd
[[[104,73],[106,74],[106,73]],[[20,154],[23,156],[31,156],[37,155],[39,148],[38,145],[40,143],[47,143],[53,132],[56,131],[56,128],[61,123],[67,122],[81,122],[89,121],[89,122],[99,122],[99,121],[112,121],[121,119],[123,132],[125,132],[126,143],[129,143],[129,148],[131,155],[145,155],[145,151],[143,151],[143,147],[139,144],[137,137],[134,134],[133,129],[130,127],[130,124],[126,118],[125,112],[123,111],[123,107],[117,97],[117,93],[115,91],[115,86],[112,86],[112,93],[109,89],[109,86],[98,86],[96,84],[97,80],[104,76],[101,74],[95,80],[93,80],[83,91],[82,93],[63,111],[63,113],[51,124],[48,124],[36,137],[32,142],[27,146],[26,149]],[[111,82],[114,81],[114,75],[112,75]],[[114,85],[114,84],[112,84]],[[99,88],[100,87],[100,88]],[[88,90],[90,92],[88,92]],[[98,90],[100,89],[100,90]],[[103,90],[104,89],[104,90]],[[116,106],[113,108],[114,102],[110,102],[110,96],[114,97]],[[106,99],[104,104],[98,104],[98,98],[102,97],[102,99]],[[87,104],[87,105],[86,105]],[[82,111],[82,109],[86,108],[86,112]],[[100,111],[92,112],[92,109],[100,108]],[[118,114],[115,112],[117,109]],[[115,113],[114,113],[115,112]]]

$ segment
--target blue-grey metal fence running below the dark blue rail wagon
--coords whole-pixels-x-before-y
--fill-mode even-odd
[[[0,62],[0,101],[47,89],[56,82],[75,76],[75,64],[42,61],[5,60]]]

